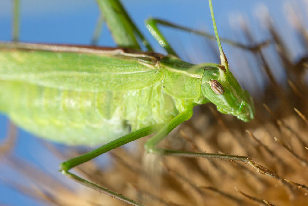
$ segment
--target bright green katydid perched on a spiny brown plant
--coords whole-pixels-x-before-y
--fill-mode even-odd
[[[115,14],[115,19],[120,17],[116,25],[124,24],[120,30],[128,33],[124,36],[138,31],[118,1],[98,2],[109,27]],[[238,160],[261,170],[244,156],[156,148],[172,129],[193,115],[198,104],[212,102],[222,113],[243,121],[253,119],[252,98],[229,71],[211,0],[209,5],[221,64],[193,65],[180,60],[155,20],[148,21],[148,29],[173,55],[133,50],[139,48],[134,37],[124,40],[115,35],[121,32],[112,30],[116,42],[130,48],[1,43],[0,84],[5,89],[0,93],[0,111],[22,128],[53,141],[79,145],[109,142],[63,162],[60,170],[81,184],[133,205],[141,204],[68,170],[152,133],[156,135],[144,145],[149,153]]]

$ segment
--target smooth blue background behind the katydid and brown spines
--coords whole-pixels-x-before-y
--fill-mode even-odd
[[[282,0],[214,0],[214,13],[216,17],[218,31],[221,37],[233,39],[237,42],[247,43],[239,32],[239,16],[249,23],[256,42],[266,40],[267,33],[257,15],[263,6],[268,7],[270,15],[276,23],[276,28],[283,34],[284,40],[288,41],[288,47],[292,52],[294,59],[302,56],[305,52],[299,42],[291,41],[295,33],[294,28],[288,25],[286,19],[284,3],[291,1]],[[292,1],[294,5],[297,4]],[[298,9],[303,9],[302,3],[298,2]],[[151,45],[157,52],[165,53],[159,44],[151,37],[144,26],[144,20],[149,17],[166,19],[170,22],[191,28],[201,29],[213,33],[212,22],[209,13],[207,1],[144,1],[144,0],[126,0],[123,1],[124,7],[131,15],[133,21],[141,32],[150,40]],[[0,40],[10,41],[12,30],[12,1],[0,1]],[[301,11],[305,12],[305,11]],[[59,44],[90,44],[95,24],[99,15],[99,9],[95,1],[90,0],[22,0],[21,1],[21,26],[20,41],[35,43],[59,43]],[[231,26],[230,26],[231,25]],[[286,25],[288,28],[285,29]],[[181,58],[193,63],[215,62],[218,63],[215,55],[212,54],[212,47],[203,47],[205,44],[201,39],[192,34],[173,29],[162,29],[167,39],[179,52]],[[108,29],[103,27],[103,32],[99,40],[101,46],[115,46]],[[216,42],[213,44],[217,48]],[[257,95],[262,92],[262,88],[267,83],[262,74],[253,74],[253,84],[249,80],[249,74],[245,73],[245,68],[241,60],[232,59],[234,48],[223,44],[226,56],[229,58],[230,68],[238,79],[241,79],[241,85],[251,93]],[[185,51],[185,52],[184,52]],[[207,53],[205,51],[208,51]],[[215,51],[217,52],[217,51]],[[270,52],[270,51],[269,51]],[[205,54],[205,55],[204,55]],[[249,59],[249,55],[247,55]],[[252,60],[253,61],[253,60]],[[279,63],[272,65],[277,69],[276,78],[283,79],[284,74],[279,72]],[[251,74],[250,74],[251,75]],[[0,115],[0,141],[6,135],[7,119]],[[2,139],[1,139],[2,138]],[[11,156],[26,159],[42,170],[48,171],[57,179],[68,185],[74,185],[70,180],[63,178],[57,172],[61,160],[54,157],[52,153],[41,145],[41,139],[19,129],[18,139]],[[34,199],[23,195],[8,187],[8,182],[18,182],[30,186],[31,182],[24,178],[20,173],[11,169],[7,164],[6,158],[0,157],[0,204],[8,205],[42,205]],[[106,162],[106,158],[102,159]]]

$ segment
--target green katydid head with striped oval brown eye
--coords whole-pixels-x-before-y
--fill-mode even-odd
[[[254,117],[252,97],[241,88],[233,74],[220,65],[205,68],[201,92],[221,113],[234,115],[245,122]]]

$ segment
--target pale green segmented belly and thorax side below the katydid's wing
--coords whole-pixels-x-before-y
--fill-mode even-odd
[[[162,82],[131,91],[78,92],[0,81],[0,111],[39,137],[96,145],[177,114]]]

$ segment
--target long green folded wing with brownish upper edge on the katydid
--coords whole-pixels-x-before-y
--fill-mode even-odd
[[[80,51],[82,49],[86,48],[81,47]],[[159,82],[164,77],[164,73],[156,67],[154,56],[112,51],[80,51],[2,48],[0,80],[93,92],[141,89]]]

